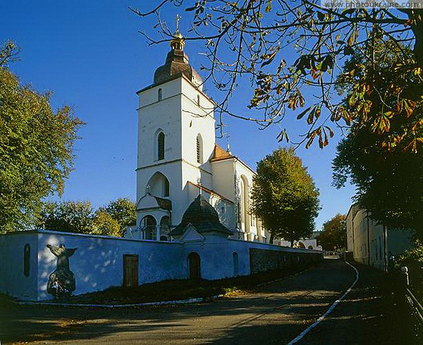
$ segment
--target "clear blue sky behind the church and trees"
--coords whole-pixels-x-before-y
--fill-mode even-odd
[[[152,32],[151,19],[140,19],[128,6],[142,8],[135,0],[36,0],[0,4],[0,43],[13,40],[20,46],[20,61],[11,70],[38,92],[52,90],[53,107],[71,105],[87,124],[75,145],[75,171],[66,181],[63,200],[90,200],[94,207],[119,197],[135,200],[137,96],[152,83],[154,70],[166,59],[168,44],[148,46],[139,31]],[[185,13],[180,11],[181,16]],[[175,13],[164,13],[173,28]],[[187,18],[188,20],[188,18]],[[188,23],[181,20],[181,32]],[[201,55],[195,44],[185,47],[190,63],[199,71]],[[217,99],[213,85],[205,85]],[[243,93],[247,102],[250,94]],[[238,100],[237,100],[238,104]],[[245,109],[240,109],[240,112]],[[293,116],[295,117],[295,116]],[[250,167],[278,147],[281,127],[300,130],[292,121],[260,131],[255,123],[225,119],[231,152]],[[218,140],[226,147],[226,139]],[[336,141],[320,150],[300,147],[309,174],[320,190],[322,210],[317,229],[334,214],[346,213],[354,189],[331,186],[331,159]]]

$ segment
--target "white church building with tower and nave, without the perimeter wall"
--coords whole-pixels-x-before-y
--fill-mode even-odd
[[[137,229],[130,236],[170,240],[171,227],[202,193],[233,238],[265,242],[249,212],[255,171],[216,145],[215,103],[183,47],[177,30],[154,83],[137,92]]]

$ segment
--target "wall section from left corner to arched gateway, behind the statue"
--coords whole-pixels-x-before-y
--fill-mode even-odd
[[[49,274],[56,269],[56,257],[47,244],[66,248],[78,248],[69,258],[71,271],[75,274],[75,295],[101,291],[110,286],[123,284],[123,255],[138,255],[139,283],[146,284],[166,279],[183,279],[186,268],[180,258],[181,243],[139,241],[108,236],[39,231],[38,299],[51,298],[47,293]]]

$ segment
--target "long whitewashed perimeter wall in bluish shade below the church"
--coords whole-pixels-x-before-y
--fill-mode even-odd
[[[26,243],[31,246],[29,277],[23,274],[23,248]],[[6,265],[0,265],[0,291],[23,300],[52,298],[47,293],[47,283],[49,275],[56,270],[57,259],[47,244],[59,246],[61,243],[66,248],[78,248],[69,258],[70,270],[75,274],[75,295],[122,286],[123,255],[138,255],[138,282],[146,284],[166,279],[188,279],[188,255],[192,252],[200,256],[203,279],[250,274],[252,248],[302,255],[313,252],[235,241],[213,234],[205,234],[200,241],[160,242],[47,230],[18,231],[0,236],[2,262],[6,262]]]

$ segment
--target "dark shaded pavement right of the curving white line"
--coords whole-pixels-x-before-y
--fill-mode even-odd
[[[359,271],[354,289],[297,344],[423,344],[414,337],[398,282],[372,267],[351,263]]]

